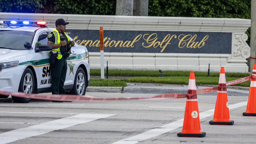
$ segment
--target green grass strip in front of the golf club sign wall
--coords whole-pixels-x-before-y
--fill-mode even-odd
[[[131,76],[128,79],[100,79],[91,78],[90,86],[114,86],[124,87],[126,83],[158,83],[158,84],[188,84],[189,71],[163,71],[163,77],[156,70],[108,70],[108,76]],[[91,69],[91,76],[100,76],[100,69]],[[236,80],[246,76],[249,73],[225,73],[226,81]],[[105,70],[106,76],[106,70]],[[195,72],[196,85],[214,84],[218,85],[220,73]],[[250,81],[246,81],[233,86],[250,86]]]

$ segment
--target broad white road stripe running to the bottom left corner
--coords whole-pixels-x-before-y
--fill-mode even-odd
[[[58,120],[36,124],[26,128],[16,129],[9,132],[4,132],[0,134],[0,144],[6,144],[16,140],[21,140],[55,130],[60,130],[68,128],[77,124],[83,124],[91,122],[100,118],[105,118],[109,116],[114,116],[113,114],[79,114],[76,116],[70,116],[61,118]]]

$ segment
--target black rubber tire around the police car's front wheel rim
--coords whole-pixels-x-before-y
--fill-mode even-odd
[[[33,83],[33,87],[32,87],[32,93],[35,92],[35,79],[34,79],[34,75],[33,75],[33,72],[30,68],[26,68],[24,73],[22,74],[21,76],[21,80],[20,80],[20,86],[19,86],[19,92],[24,92],[23,90],[23,82],[24,82],[24,78],[27,74],[30,74],[31,77],[32,77],[32,83]],[[20,98],[20,97],[15,97],[15,96],[12,96],[12,100],[14,102],[17,102],[17,103],[28,103],[31,99],[30,98]]]

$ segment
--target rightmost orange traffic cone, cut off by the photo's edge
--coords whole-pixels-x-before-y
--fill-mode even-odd
[[[247,108],[243,116],[256,116],[256,64],[253,65]]]

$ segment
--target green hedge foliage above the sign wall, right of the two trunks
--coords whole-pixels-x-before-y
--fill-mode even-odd
[[[251,18],[251,0],[149,0],[148,16]]]

